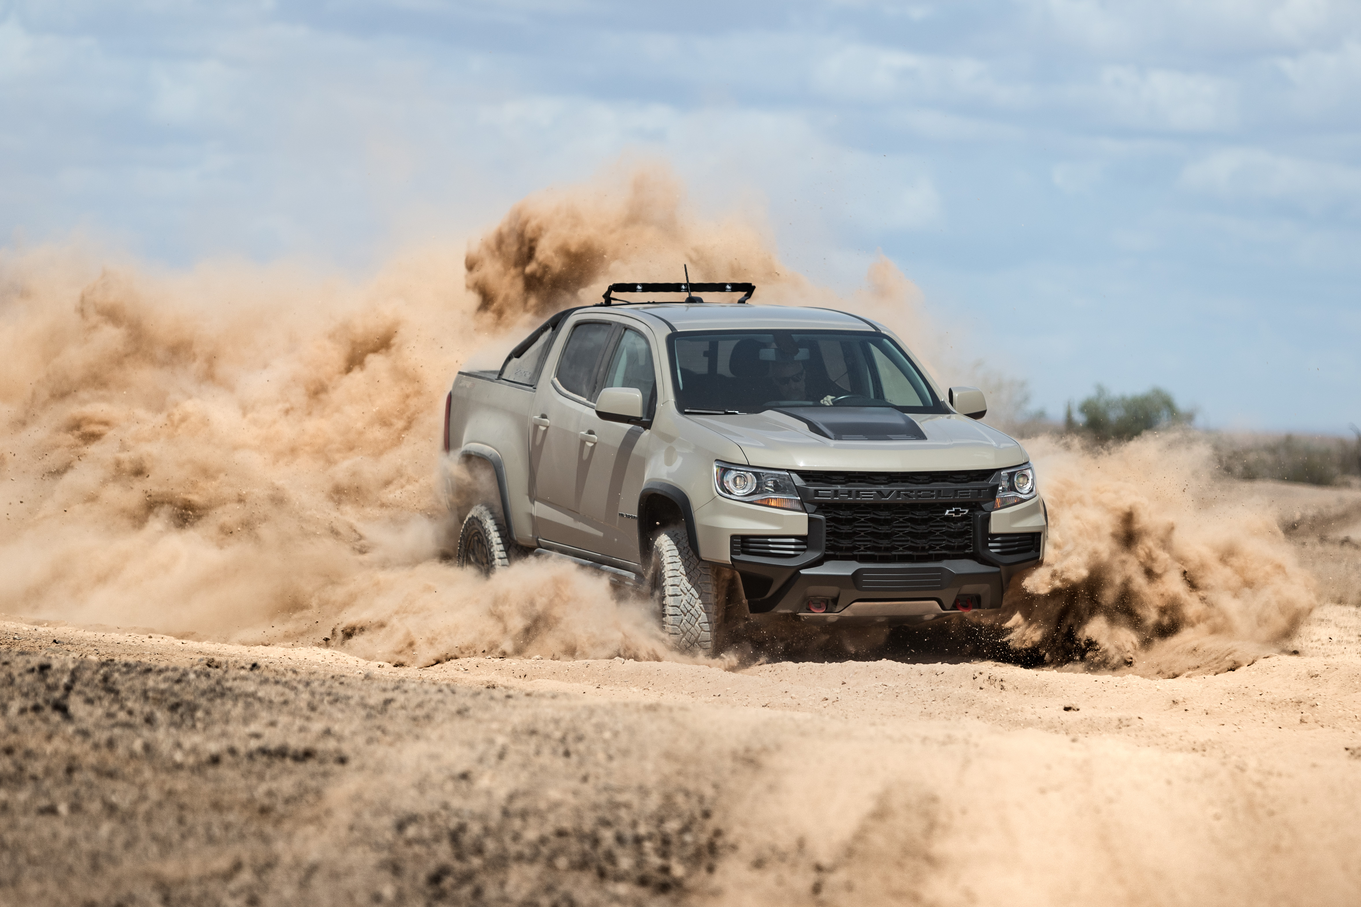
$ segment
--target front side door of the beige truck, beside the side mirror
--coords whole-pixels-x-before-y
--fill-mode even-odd
[[[610,355],[602,388],[637,388],[642,392],[644,415],[656,409],[657,375],[648,340],[626,328]],[[599,390],[596,396],[599,396]],[[638,559],[638,492],[646,466],[652,434],[641,426],[606,422],[595,415],[585,419],[599,441],[587,466],[580,515],[592,533],[596,553],[630,564]]]

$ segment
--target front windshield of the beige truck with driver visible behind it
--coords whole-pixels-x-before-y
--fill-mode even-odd
[[[864,332],[680,333],[671,366],[686,412],[893,407],[949,412],[891,339]]]

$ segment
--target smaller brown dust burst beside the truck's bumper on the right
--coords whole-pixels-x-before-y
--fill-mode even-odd
[[[1007,592],[1013,647],[1097,669],[1224,670],[1279,651],[1317,604],[1281,528],[1191,432],[1028,449],[1049,548]]]

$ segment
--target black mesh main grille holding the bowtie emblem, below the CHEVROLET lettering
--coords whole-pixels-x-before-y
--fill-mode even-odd
[[[968,510],[947,517],[946,511]],[[827,519],[827,560],[863,563],[921,563],[973,556],[973,514],[977,503],[856,504],[819,503]]]

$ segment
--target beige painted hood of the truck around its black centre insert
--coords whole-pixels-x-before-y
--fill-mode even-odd
[[[776,469],[1002,469],[1028,458],[1025,449],[1000,431],[955,413],[911,416],[924,441],[834,441],[807,422],[773,409],[686,419],[736,443],[749,465]]]

